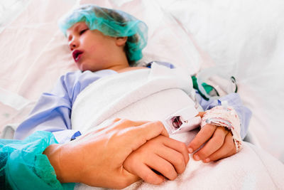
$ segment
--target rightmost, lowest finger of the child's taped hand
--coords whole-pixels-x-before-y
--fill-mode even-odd
[[[207,159],[204,159],[204,162],[216,161],[218,159],[223,159],[226,157],[230,157],[233,154],[236,154],[236,145],[234,144],[233,135],[231,132],[226,134],[226,138],[224,140],[224,145],[211,154]]]

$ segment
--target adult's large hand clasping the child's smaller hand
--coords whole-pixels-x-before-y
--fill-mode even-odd
[[[104,122],[94,132],[74,141],[52,144],[44,154],[62,183],[80,182],[121,189],[139,179],[124,169],[125,159],[160,134],[168,137],[161,122],[115,119]]]

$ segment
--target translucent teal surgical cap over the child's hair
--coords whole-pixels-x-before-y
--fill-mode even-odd
[[[84,21],[90,30],[99,30],[106,36],[127,36],[126,52],[129,65],[142,58],[142,49],[147,44],[148,27],[124,11],[106,9],[92,4],[80,6],[60,19],[59,26],[66,36],[68,28],[75,23]]]

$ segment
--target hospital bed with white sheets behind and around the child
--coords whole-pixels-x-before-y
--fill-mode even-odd
[[[163,60],[204,82],[213,75],[225,80],[234,76],[244,105],[253,112],[246,141],[284,162],[281,0],[1,1],[2,138],[13,137],[40,93],[53,88],[60,75],[77,69],[57,21],[70,9],[88,3],[121,9],[147,23],[148,45],[141,64]],[[212,83],[226,88],[218,80]]]

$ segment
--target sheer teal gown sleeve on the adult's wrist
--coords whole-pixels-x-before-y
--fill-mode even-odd
[[[42,154],[57,144],[51,132],[35,132],[24,140],[0,139],[0,186],[5,189],[74,189],[60,184],[55,171]]]

